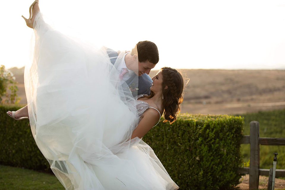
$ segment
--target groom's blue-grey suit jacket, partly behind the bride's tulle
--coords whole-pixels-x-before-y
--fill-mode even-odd
[[[118,53],[112,49],[107,48],[106,49],[107,54],[110,58],[110,61],[112,64],[115,64],[115,61],[118,58]],[[131,85],[131,84],[135,84],[136,88],[139,88],[137,91],[137,94],[151,94],[151,90],[149,88],[151,88],[151,77],[148,76],[148,74],[143,74],[141,76],[138,77],[138,82],[137,82],[137,75],[134,74],[134,76],[131,76],[128,80],[126,80],[125,82],[127,83],[127,85]],[[133,94],[135,95],[135,94]]]

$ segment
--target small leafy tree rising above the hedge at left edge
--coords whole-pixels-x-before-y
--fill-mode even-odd
[[[18,82],[15,81],[13,73],[9,70],[5,70],[5,66],[0,66],[0,102],[17,104],[20,100],[17,95]],[[7,88],[11,91],[10,94],[7,93]],[[2,99],[2,96],[6,96],[6,99]]]

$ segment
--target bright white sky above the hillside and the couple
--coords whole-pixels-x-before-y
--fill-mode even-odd
[[[1,64],[30,61],[33,0],[1,1]],[[40,0],[63,32],[98,46],[131,50],[156,43],[163,66],[186,69],[285,69],[285,0]],[[67,28],[67,30],[66,30]]]

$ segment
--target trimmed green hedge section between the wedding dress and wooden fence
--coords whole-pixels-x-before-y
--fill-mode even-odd
[[[239,183],[239,140],[243,118],[228,115],[179,115],[160,122],[143,140],[180,189],[228,189]]]

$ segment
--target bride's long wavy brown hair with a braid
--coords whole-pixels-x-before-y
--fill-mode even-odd
[[[183,102],[184,80],[180,72],[170,67],[162,67],[162,105],[164,107],[164,121],[172,124],[176,115],[181,111],[180,104]],[[167,88],[166,88],[167,86]],[[166,89],[165,89],[166,88]],[[147,98],[154,96],[153,91]]]

